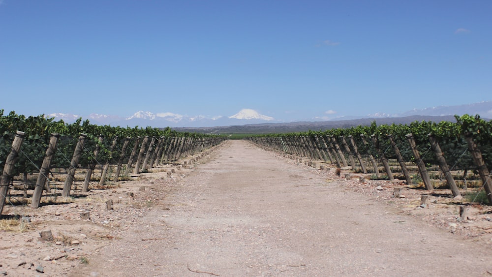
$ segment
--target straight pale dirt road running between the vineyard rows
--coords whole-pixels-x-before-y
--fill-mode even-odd
[[[492,250],[228,141],[74,276],[489,276]],[[339,179],[338,179],[339,180]],[[156,184],[154,184],[156,185]]]

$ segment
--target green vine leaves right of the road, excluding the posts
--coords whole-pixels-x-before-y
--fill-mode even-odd
[[[486,164],[492,165],[492,121],[487,122],[480,119],[480,116],[455,116],[456,123],[453,122],[412,122],[410,124],[383,124],[377,125],[372,122],[369,126],[357,126],[351,128],[333,128],[326,131],[309,131],[304,133],[286,133],[286,134],[269,134],[258,135],[256,137],[268,138],[292,138],[298,136],[307,136],[310,138],[318,137],[322,141],[329,144],[331,137],[339,141],[340,136],[352,136],[359,152],[372,154],[378,157],[374,144],[370,138],[374,135],[377,140],[378,147],[388,159],[396,159],[395,151],[390,143],[388,135],[392,135],[393,141],[398,147],[400,154],[405,161],[413,161],[413,151],[410,148],[407,134],[412,134],[416,144],[416,149],[419,152],[420,158],[426,165],[436,165],[437,160],[431,149],[429,135],[433,135],[442,153],[445,156],[446,162],[452,170],[476,170],[471,154],[468,151],[466,137],[472,137],[482,152],[482,156]],[[364,136],[364,143],[363,138]],[[322,146],[322,148],[325,146]]]

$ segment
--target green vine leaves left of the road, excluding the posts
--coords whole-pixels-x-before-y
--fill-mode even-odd
[[[113,138],[118,136],[118,143],[122,142],[126,137],[208,137],[210,135],[194,134],[194,133],[179,133],[171,131],[169,127],[159,128],[134,128],[110,126],[110,125],[95,125],[89,120],[82,121],[82,118],[77,119],[74,123],[64,123],[62,120],[56,122],[54,118],[47,118],[44,115],[35,117],[25,117],[11,111],[8,115],[4,115],[4,111],[0,110],[0,173],[3,171],[5,160],[10,153],[12,141],[16,131],[26,133],[24,138],[19,160],[15,164],[15,174],[31,173],[38,171],[44,159],[46,149],[52,133],[60,134],[60,139],[57,144],[57,151],[52,160],[52,165],[62,168],[70,166],[70,160],[78,142],[81,133],[87,134],[87,139],[84,144],[84,151],[79,163],[82,166],[94,161],[93,151],[96,146],[99,146],[100,151],[97,156],[99,163],[104,163],[107,160],[118,158],[121,155],[119,149],[111,151]],[[101,143],[98,142],[99,135],[104,139]],[[131,147],[127,149],[131,151]],[[125,155],[125,154],[123,154]]]

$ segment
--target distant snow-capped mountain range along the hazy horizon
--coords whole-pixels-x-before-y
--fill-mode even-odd
[[[367,116],[344,116],[331,119],[329,121],[324,121],[319,118],[306,120],[303,122],[296,123],[285,123],[279,120],[276,120],[272,117],[261,115],[255,110],[252,109],[243,109],[239,111],[237,114],[232,116],[186,116],[175,113],[163,112],[163,113],[152,113],[146,111],[138,111],[134,113],[132,116],[127,118],[122,118],[119,116],[111,116],[111,115],[100,115],[100,114],[90,114],[87,117],[73,115],[73,114],[62,114],[62,113],[54,113],[47,115],[48,117],[54,117],[55,120],[62,119],[67,123],[72,123],[77,120],[79,117],[82,117],[84,120],[89,119],[91,123],[95,124],[111,124],[113,126],[153,126],[153,127],[173,127],[180,130],[196,130],[197,128],[201,129],[211,129],[211,126],[231,126],[237,127],[242,125],[251,125],[251,124],[262,124],[266,123],[269,128],[273,128],[272,126],[283,126],[285,128],[294,128],[294,125],[303,125],[305,127],[310,126],[312,130],[319,130],[320,128],[324,128],[324,126],[341,126],[346,124],[353,124],[356,122],[372,122],[373,120],[377,120],[377,122],[398,122],[401,121],[398,118],[406,119],[406,121],[410,119],[420,119],[423,116],[430,117],[439,121],[438,117],[446,118],[446,120],[454,120],[454,115],[480,115],[482,118],[492,118],[492,101],[484,101],[473,104],[465,104],[459,106],[438,106],[432,108],[426,108],[421,110],[411,110],[407,112],[403,112],[400,114],[385,114],[385,113],[376,113]],[[385,119],[385,120],[383,120]],[[417,119],[417,120],[418,120]],[[420,119],[425,120],[425,119]],[[350,121],[351,123],[348,123]],[[414,120],[411,120],[414,121]],[[411,122],[410,121],[410,122]],[[186,128],[184,128],[186,126]],[[289,127],[290,126],[290,127]],[[258,127],[258,126],[257,126]],[[264,126],[265,127],[265,126]],[[303,127],[303,130],[305,130]],[[241,129],[241,127],[237,127]],[[223,129],[223,128],[221,128]],[[295,130],[293,130],[295,132]]]

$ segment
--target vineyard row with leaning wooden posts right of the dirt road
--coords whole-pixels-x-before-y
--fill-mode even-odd
[[[492,161],[492,122],[479,116],[464,115],[451,122],[414,122],[409,125],[358,126],[320,132],[252,136],[253,143],[311,159],[324,160],[338,167],[372,173],[374,178],[394,180],[393,171],[401,172],[412,185],[418,172],[426,189],[433,190],[429,171],[442,176],[456,199],[461,199],[455,182],[458,173],[466,182],[469,173],[478,174],[492,203],[492,180],[487,165]],[[397,162],[397,168],[391,167]],[[395,163],[393,162],[393,163]],[[370,164],[370,166],[368,166]],[[449,164],[452,166],[450,167]],[[386,175],[381,176],[383,171]]]

